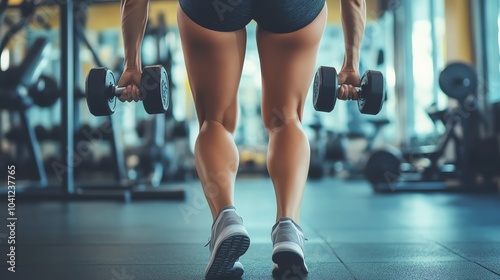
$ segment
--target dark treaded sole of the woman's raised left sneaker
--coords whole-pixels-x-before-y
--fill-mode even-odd
[[[247,235],[232,235],[224,239],[215,253],[205,279],[235,278],[243,275],[243,269],[233,269],[234,263],[246,253],[250,246]]]

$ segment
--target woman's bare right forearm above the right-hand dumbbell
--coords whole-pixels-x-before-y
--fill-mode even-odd
[[[341,18],[345,43],[343,66],[347,70],[358,70],[366,24],[365,0],[341,0]]]

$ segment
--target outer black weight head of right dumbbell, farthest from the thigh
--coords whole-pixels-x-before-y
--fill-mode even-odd
[[[384,76],[379,71],[366,71],[361,78],[361,90],[358,96],[358,108],[363,114],[376,115],[382,110],[385,100]]]

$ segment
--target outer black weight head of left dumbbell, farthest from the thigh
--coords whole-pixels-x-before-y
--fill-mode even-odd
[[[116,85],[113,72],[106,67],[92,68],[85,81],[85,93],[90,113],[109,116],[115,112],[116,97],[109,97],[110,87]]]

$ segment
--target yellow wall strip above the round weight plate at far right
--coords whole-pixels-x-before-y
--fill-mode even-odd
[[[446,60],[473,63],[471,0],[445,0]]]

